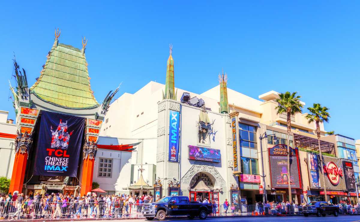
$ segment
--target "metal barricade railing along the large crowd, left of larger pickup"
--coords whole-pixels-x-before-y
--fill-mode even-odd
[[[139,217],[143,203],[0,202],[0,218]]]

